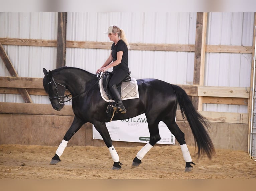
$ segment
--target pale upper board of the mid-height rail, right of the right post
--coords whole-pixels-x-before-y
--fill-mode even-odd
[[[199,96],[249,98],[250,87],[199,86]]]

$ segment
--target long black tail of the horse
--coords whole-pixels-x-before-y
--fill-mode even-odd
[[[172,87],[176,93],[182,117],[184,119],[185,114],[194,135],[198,147],[198,156],[200,157],[201,154],[206,153],[207,156],[211,158],[212,154],[215,153],[215,149],[213,142],[205,129],[205,127],[207,127],[208,130],[210,127],[207,119],[195,109],[188,95],[182,88],[176,85],[172,85]]]

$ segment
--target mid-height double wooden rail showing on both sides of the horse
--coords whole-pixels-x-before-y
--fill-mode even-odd
[[[203,103],[248,104],[250,87],[178,86],[189,96],[202,96]],[[26,89],[29,95],[47,95],[43,89],[42,78],[0,77],[1,94],[19,94],[17,88]]]

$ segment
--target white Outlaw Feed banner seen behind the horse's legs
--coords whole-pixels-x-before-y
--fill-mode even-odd
[[[147,118],[144,113],[133,118],[108,122],[106,126],[114,141],[149,142]],[[174,135],[162,121],[159,123],[159,134],[161,140],[157,142],[158,144],[175,144]],[[102,139],[94,125],[93,138]]]

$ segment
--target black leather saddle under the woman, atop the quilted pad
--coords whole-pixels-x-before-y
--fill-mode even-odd
[[[129,82],[129,81],[131,81],[130,74],[131,74],[131,72],[129,72],[129,74],[125,77],[125,79],[122,82]],[[104,91],[106,92],[106,94],[108,95],[108,97],[110,99],[114,99],[112,94],[111,94],[111,92],[110,92],[110,90],[109,90],[109,87],[108,87],[108,83],[109,83],[112,75],[113,74],[111,72],[107,71],[107,72],[103,73],[103,76],[102,76],[103,89],[104,89]],[[117,85],[117,90],[118,90],[120,95],[121,95],[122,82]]]

